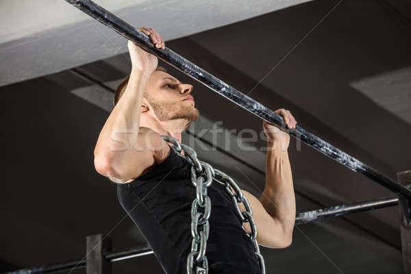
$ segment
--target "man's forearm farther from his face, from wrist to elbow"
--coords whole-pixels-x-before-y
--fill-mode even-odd
[[[273,149],[268,142],[266,183],[260,201],[267,212],[281,225],[284,234],[292,235],[295,223],[295,194],[288,152]]]

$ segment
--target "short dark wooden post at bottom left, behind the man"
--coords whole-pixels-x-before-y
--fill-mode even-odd
[[[104,258],[105,253],[110,251],[110,238],[104,238],[103,234],[87,236],[86,273],[111,274],[111,263]]]

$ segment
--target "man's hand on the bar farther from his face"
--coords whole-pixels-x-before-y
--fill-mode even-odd
[[[289,110],[280,108],[279,110],[275,110],[275,113],[283,117],[288,128],[293,129],[295,128],[295,125],[297,125],[297,121],[295,121],[294,116],[292,116]],[[282,151],[288,149],[288,145],[290,145],[290,135],[288,133],[282,132],[278,127],[275,127],[266,121],[262,121],[262,127],[264,128],[264,133],[268,138],[268,142],[273,144],[273,149],[280,148]]]

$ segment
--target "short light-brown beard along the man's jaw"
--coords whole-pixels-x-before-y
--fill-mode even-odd
[[[197,121],[199,110],[192,105],[187,105],[183,101],[176,102],[157,102],[149,100],[154,114],[160,121],[170,121],[175,119],[185,119],[188,124]]]

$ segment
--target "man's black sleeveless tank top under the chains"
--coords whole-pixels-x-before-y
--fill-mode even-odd
[[[149,173],[119,184],[117,195],[162,269],[168,274],[186,273],[192,242],[190,209],[195,199],[188,160],[171,147],[169,156]],[[261,273],[231,197],[215,180],[208,196],[212,203],[206,249],[209,273]]]

